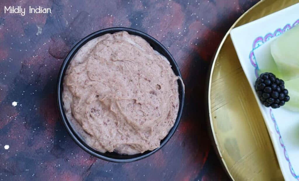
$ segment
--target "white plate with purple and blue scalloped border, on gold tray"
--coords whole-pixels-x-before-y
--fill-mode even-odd
[[[230,33],[242,68],[265,120],[285,180],[299,180],[299,112],[292,112],[283,107],[271,109],[260,103],[254,89],[258,77],[254,52],[259,54],[258,57],[269,57],[271,55],[269,52],[265,55],[260,54],[270,50],[269,43],[267,45],[266,42],[299,24],[298,12],[299,3],[234,28]]]

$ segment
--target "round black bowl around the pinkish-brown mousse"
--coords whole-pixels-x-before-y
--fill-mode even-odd
[[[180,118],[181,118],[181,113],[182,113],[182,109],[183,109],[183,105],[184,105],[184,86],[183,86],[181,81],[178,80],[179,100],[180,100],[179,112],[178,112],[178,116],[176,118],[176,122],[174,123],[173,127],[171,128],[171,130],[169,131],[167,136],[163,140],[161,140],[160,147],[158,147],[158,148],[156,148],[155,150],[152,150],[152,151],[146,151],[144,153],[139,153],[139,154],[135,154],[135,155],[121,155],[121,154],[118,154],[118,153],[115,153],[115,152],[100,153],[99,151],[94,150],[93,148],[88,146],[80,138],[80,136],[76,133],[76,131],[74,131],[74,129],[71,127],[70,123],[68,122],[68,119],[65,116],[64,109],[63,109],[63,103],[62,103],[62,89],[63,89],[62,82],[63,82],[63,77],[65,75],[66,69],[68,68],[68,64],[71,62],[71,60],[74,57],[74,55],[76,54],[76,52],[86,42],[90,41],[91,39],[94,39],[98,36],[102,36],[102,35],[107,34],[107,33],[112,34],[112,33],[118,32],[118,31],[127,31],[129,34],[138,35],[138,36],[141,36],[142,38],[144,38],[145,40],[147,40],[147,42],[149,42],[149,44],[152,46],[152,48],[154,48],[156,51],[158,51],[160,54],[164,55],[168,59],[168,61],[170,62],[171,66],[172,66],[173,72],[177,76],[181,77],[179,67],[176,64],[173,57],[171,56],[171,54],[169,53],[169,51],[160,42],[158,42],[153,37],[149,36],[148,34],[145,34],[145,33],[141,32],[141,31],[134,30],[134,29],[131,29],[131,28],[107,28],[107,29],[103,29],[103,30],[94,32],[94,33],[86,36],[85,38],[83,38],[80,42],[78,42],[72,48],[72,50],[69,52],[69,54],[65,58],[64,62],[62,63],[62,66],[60,68],[60,72],[59,72],[58,80],[57,80],[57,104],[58,104],[59,114],[60,114],[60,118],[62,120],[63,125],[67,129],[67,131],[70,134],[70,136],[72,137],[72,139],[83,150],[85,150],[86,152],[88,152],[89,154],[91,154],[93,156],[96,156],[97,158],[100,158],[100,159],[103,159],[103,160],[106,160],[106,161],[110,161],[110,162],[132,162],[132,161],[136,161],[136,160],[139,160],[139,159],[143,159],[143,158],[155,153],[157,150],[159,150],[161,147],[163,147],[167,143],[167,141],[170,139],[170,137],[176,131],[176,128],[178,127],[178,124],[179,124],[179,121],[180,121]]]

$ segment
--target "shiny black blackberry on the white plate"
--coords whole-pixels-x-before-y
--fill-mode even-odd
[[[265,72],[255,81],[255,90],[262,104],[273,109],[283,106],[290,100],[284,81],[272,73]]]

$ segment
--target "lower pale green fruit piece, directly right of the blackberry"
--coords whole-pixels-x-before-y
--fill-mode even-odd
[[[290,101],[286,102],[285,108],[299,112],[299,78],[286,81],[284,83],[289,91]]]

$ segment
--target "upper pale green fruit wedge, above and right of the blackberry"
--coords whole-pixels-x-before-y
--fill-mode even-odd
[[[299,78],[298,25],[271,43],[271,54],[284,81]]]

